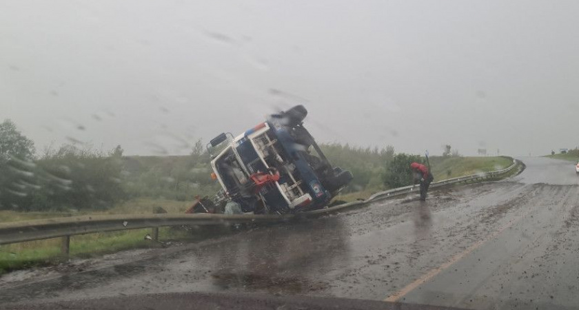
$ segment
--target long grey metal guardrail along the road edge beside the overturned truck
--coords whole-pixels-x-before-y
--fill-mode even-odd
[[[472,182],[489,178],[505,176],[514,169],[524,169],[520,161],[505,169],[470,176],[450,178],[432,183],[431,187],[441,187],[460,182]],[[0,245],[9,243],[42,240],[62,237],[62,252],[68,254],[70,249],[70,236],[91,234],[104,231],[120,231],[129,229],[143,229],[179,225],[231,225],[241,223],[273,223],[287,221],[293,218],[318,216],[344,209],[367,205],[378,200],[403,194],[416,192],[418,186],[411,185],[389,189],[376,193],[367,200],[344,203],[334,207],[307,211],[299,214],[119,214],[103,216],[72,216],[68,218],[52,218],[46,220],[31,220],[26,222],[14,222],[0,224]]]

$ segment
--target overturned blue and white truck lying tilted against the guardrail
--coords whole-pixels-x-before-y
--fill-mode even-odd
[[[187,213],[285,214],[327,206],[352,173],[332,167],[303,126],[306,115],[296,105],[235,138],[223,133],[212,139],[212,178],[222,189],[198,198]]]

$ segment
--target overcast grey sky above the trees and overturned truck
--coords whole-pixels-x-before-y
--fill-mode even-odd
[[[186,154],[303,103],[316,140],[576,147],[576,1],[1,1],[0,119]]]

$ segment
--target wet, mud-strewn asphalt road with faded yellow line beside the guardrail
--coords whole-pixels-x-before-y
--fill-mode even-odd
[[[385,200],[168,249],[0,278],[3,302],[166,292],[336,296],[467,309],[579,309],[579,176],[520,158],[509,180]]]

